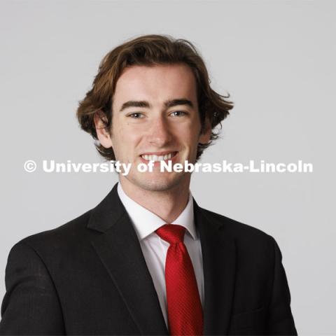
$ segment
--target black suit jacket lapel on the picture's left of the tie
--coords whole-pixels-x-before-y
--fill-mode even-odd
[[[141,334],[168,335],[160,302],[139,239],[117,184],[92,210],[87,228],[102,232],[92,245],[106,267]]]

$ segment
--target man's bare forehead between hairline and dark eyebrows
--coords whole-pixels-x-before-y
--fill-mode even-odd
[[[193,71],[186,64],[155,66],[130,66],[116,84],[113,101],[123,104],[126,100],[151,100],[186,98],[197,102],[196,81]]]

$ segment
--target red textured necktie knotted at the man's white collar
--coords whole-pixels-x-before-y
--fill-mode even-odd
[[[155,231],[170,246],[165,278],[170,335],[203,335],[203,314],[193,264],[183,243],[186,228],[166,224]]]

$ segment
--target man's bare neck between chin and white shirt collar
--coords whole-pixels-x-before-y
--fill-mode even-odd
[[[162,191],[140,188],[122,176],[120,176],[119,183],[128,197],[162,218],[166,223],[173,223],[188,204],[190,177],[183,179],[179,185]]]

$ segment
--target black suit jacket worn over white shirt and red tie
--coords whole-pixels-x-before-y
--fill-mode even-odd
[[[168,335],[117,185],[94,209],[10,250],[0,335]],[[198,207],[204,335],[296,335],[272,237]]]

